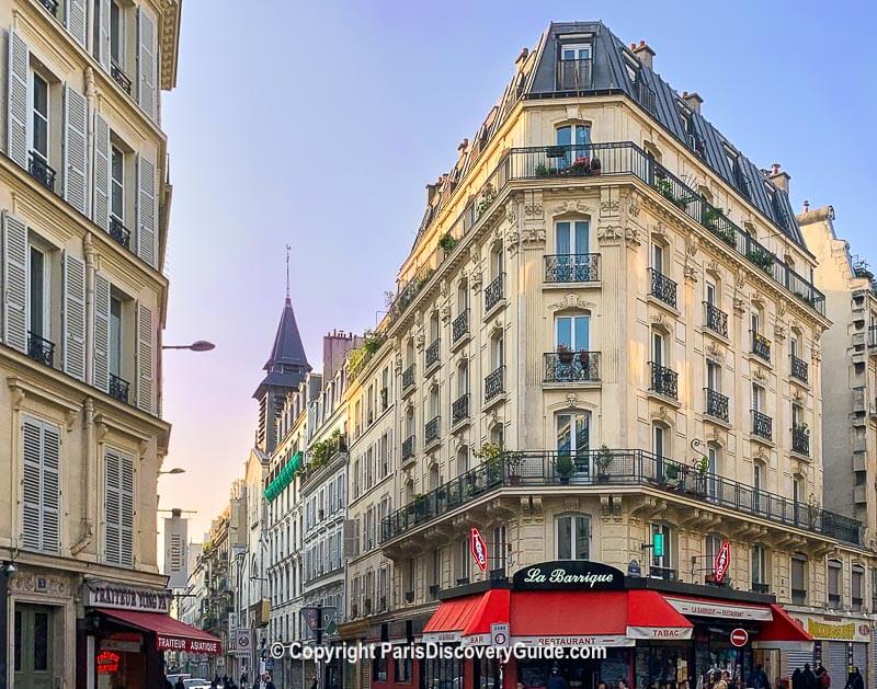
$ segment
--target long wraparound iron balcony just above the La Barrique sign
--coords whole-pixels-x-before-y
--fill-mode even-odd
[[[381,543],[447,515],[502,487],[533,493],[537,487],[605,491],[612,486],[643,486],[731,509],[772,521],[861,544],[862,525],[850,517],[793,498],[756,491],[753,486],[714,473],[701,473],[688,464],[638,449],[583,450],[576,453],[572,470],[560,464],[555,451],[514,453],[471,469],[437,489],[414,498],[384,518]],[[569,455],[567,455],[569,457]],[[559,470],[562,467],[562,472]],[[574,486],[574,487],[570,487]]]

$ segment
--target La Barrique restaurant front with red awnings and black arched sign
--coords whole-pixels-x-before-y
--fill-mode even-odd
[[[594,646],[604,655],[513,658],[496,669],[464,661],[438,668],[435,681],[426,667],[422,689],[544,689],[554,670],[570,689],[596,689],[601,681],[611,689],[622,681],[634,689],[695,689],[721,670],[745,687],[759,664],[774,684],[784,648],[812,648],[812,638],[758,594],[625,576],[588,561],[546,562],[511,582],[485,584],[492,587],[443,600],[422,641],[491,645],[491,629],[508,625],[512,645]]]

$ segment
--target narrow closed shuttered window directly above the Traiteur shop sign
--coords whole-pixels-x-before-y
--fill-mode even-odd
[[[107,448],[104,452],[104,559],[134,565],[134,457]]]

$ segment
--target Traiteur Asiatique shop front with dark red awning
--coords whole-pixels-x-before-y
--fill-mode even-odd
[[[162,686],[164,652],[217,656],[215,636],[169,615],[170,592],[106,582],[83,586],[77,633],[77,687],[151,689]]]

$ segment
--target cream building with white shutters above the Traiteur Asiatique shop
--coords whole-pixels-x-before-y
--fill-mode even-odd
[[[176,79],[180,9],[0,3],[0,473],[14,486],[0,498],[0,561],[18,570],[0,576],[0,665],[10,686],[93,686],[115,623],[99,599],[128,590],[164,606],[161,92]],[[155,648],[119,663],[123,678],[156,681],[161,669]]]

